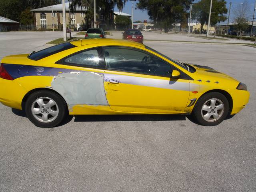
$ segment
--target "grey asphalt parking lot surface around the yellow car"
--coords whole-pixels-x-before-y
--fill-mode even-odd
[[[0,58],[42,49],[61,35],[20,34],[0,33]],[[74,116],[50,129],[0,104],[0,191],[256,191],[256,48],[145,44],[244,82],[249,104],[214,127],[189,116],[131,115]]]

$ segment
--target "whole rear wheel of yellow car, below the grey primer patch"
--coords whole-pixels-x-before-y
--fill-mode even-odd
[[[25,111],[33,124],[43,128],[57,126],[68,113],[64,99],[47,90],[31,94],[26,101]]]

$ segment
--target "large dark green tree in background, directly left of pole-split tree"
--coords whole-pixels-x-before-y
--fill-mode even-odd
[[[139,0],[137,8],[146,10],[150,19],[156,24],[162,23],[164,32],[168,32],[168,28],[180,22],[183,12],[189,9],[190,4],[194,0]]]

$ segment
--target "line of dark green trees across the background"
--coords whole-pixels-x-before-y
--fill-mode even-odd
[[[21,24],[31,24],[33,23],[31,9],[60,4],[61,2],[61,0],[0,0],[0,16],[18,21]],[[74,12],[76,7],[85,8],[86,23],[90,23],[93,26],[94,1],[69,0],[69,2],[71,12]],[[108,19],[113,19],[111,17],[113,16],[114,7],[122,11],[126,2],[127,0],[96,0],[96,11]],[[189,13],[190,4],[193,2],[194,0],[138,0],[136,8],[147,11],[152,23],[168,32],[169,28],[180,23],[182,14]],[[193,4],[192,7],[192,20],[200,22],[202,30],[204,24],[208,22],[210,0],[200,0]],[[224,22],[227,19],[227,12],[225,0],[213,0],[211,26]],[[240,16],[237,16],[235,20],[238,22],[240,30],[243,30],[245,27],[241,22],[246,23],[247,21],[244,16],[240,13]],[[127,18],[119,16],[115,22],[123,25],[122,27],[124,28],[129,27],[131,24],[130,20],[128,21]]]

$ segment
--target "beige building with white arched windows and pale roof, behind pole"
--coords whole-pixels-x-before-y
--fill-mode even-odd
[[[71,25],[71,28],[79,28],[85,24],[85,9],[76,7],[75,13],[69,13],[69,4],[66,3],[66,24]],[[34,13],[34,25],[36,29],[55,28],[63,24],[62,4],[42,7],[31,10]]]

